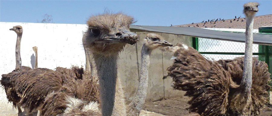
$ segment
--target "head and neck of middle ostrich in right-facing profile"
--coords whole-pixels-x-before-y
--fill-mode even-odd
[[[151,52],[158,47],[166,46],[172,46],[172,44],[164,41],[164,38],[157,34],[149,33],[144,39],[144,44],[141,51],[141,74],[139,86],[135,98],[127,107],[127,115],[138,116],[140,114],[147,92],[148,67],[150,63]]]

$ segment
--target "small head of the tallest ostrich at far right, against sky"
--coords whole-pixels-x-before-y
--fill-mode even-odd
[[[244,4],[244,14],[246,17],[254,17],[256,12],[258,12],[259,3],[257,2],[248,2]]]

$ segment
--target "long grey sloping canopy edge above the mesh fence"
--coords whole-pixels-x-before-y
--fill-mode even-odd
[[[179,35],[187,35],[198,38],[210,38],[225,41],[244,42],[245,34],[242,32],[222,32],[196,27],[170,27],[170,26],[138,26],[131,25],[130,29],[140,29],[152,32],[163,32]],[[254,33],[253,43],[262,45],[272,45],[272,34]]]

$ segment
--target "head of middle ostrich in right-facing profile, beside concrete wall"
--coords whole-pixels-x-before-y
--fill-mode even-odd
[[[144,39],[144,45],[151,50],[156,49],[158,47],[173,46],[171,43],[165,41],[162,36],[154,33],[147,34],[146,38]]]

